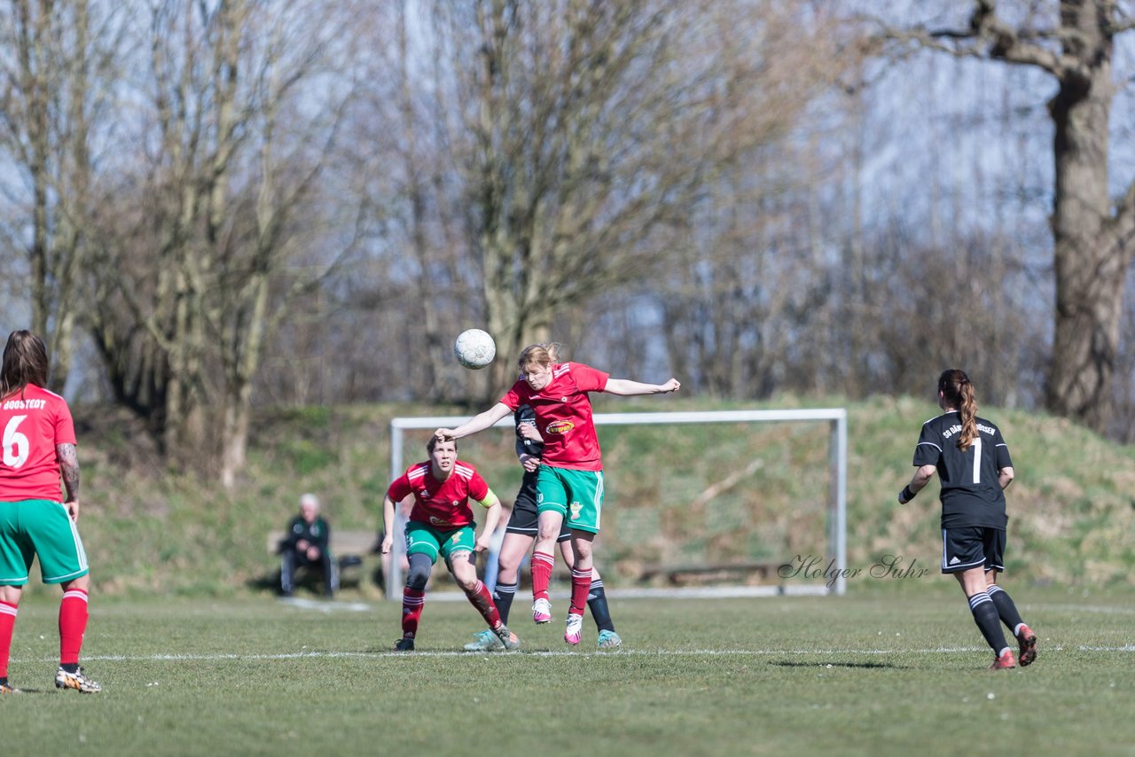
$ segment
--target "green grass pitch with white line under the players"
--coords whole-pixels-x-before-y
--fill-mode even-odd
[[[619,599],[620,651],[580,649],[515,605],[519,653],[464,653],[464,602],[427,602],[389,653],[389,602],[95,598],[84,665],[56,691],[54,594],[25,600],[0,699],[6,754],[1135,754],[1135,594],[1007,588],[1041,639],[989,672],[941,577],[846,597]]]

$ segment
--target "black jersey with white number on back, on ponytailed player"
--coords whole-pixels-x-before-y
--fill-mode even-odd
[[[961,415],[957,411],[923,423],[915,447],[916,468],[938,468],[943,529],[969,525],[1003,529],[1008,522],[998,478],[1002,468],[1012,465],[1009,447],[991,421],[977,418],[976,422],[977,438],[965,452],[958,449]]]

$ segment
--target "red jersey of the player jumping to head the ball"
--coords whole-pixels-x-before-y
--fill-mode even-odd
[[[540,392],[532,392],[520,379],[501,399],[513,412],[521,405],[536,411],[536,428],[544,437],[543,463],[580,471],[602,471],[599,438],[591,420],[588,392],[603,392],[609,373],[582,363],[552,365],[552,380]]]

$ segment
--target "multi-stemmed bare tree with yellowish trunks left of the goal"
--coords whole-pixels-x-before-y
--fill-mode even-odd
[[[215,451],[226,485],[266,331],[351,244],[304,250],[352,86],[325,67],[346,25],[317,5],[154,6],[144,162],[125,166],[131,205],[102,219],[93,334],[116,396],[167,454]],[[300,260],[313,264],[287,268]]]

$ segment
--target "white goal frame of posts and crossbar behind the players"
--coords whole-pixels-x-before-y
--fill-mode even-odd
[[[403,455],[404,434],[410,429],[453,428],[469,420],[468,415],[402,417],[390,420],[390,480],[406,469]],[[834,564],[834,581],[830,591],[842,595],[847,590],[847,410],[843,407],[818,410],[724,410],[655,413],[596,413],[595,424],[676,424],[676,423],[760,423],[783,421],[816,421],[830,424],[829,435],[829,510],[827,510],[827,560]],[[513,418],[507,415],[496,427],[513,428]],[[402,518],[401,514],[397,518]],[[390,566],[386,571],[386,596],[398,599],[402,596],[401,556],[405,544],[394,540]],[[639,589],[634,596],[651,592],[667,592],[666,589]],[[672,591],[670,591],[673,594]],[[617,594],[611,591],[608,594]],[[703,595],[705,596],[705,595]],[[722,591],[712,596],[729,596]],[[741,595],[743,596],[743,595]]]

